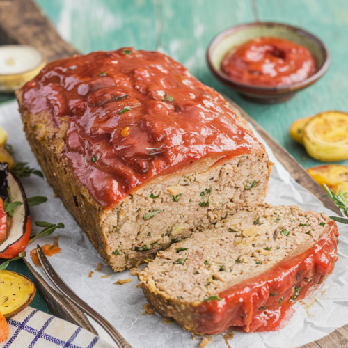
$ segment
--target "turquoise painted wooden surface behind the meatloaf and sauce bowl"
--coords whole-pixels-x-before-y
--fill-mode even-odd
[[[243,100],[212,76],[205,61],[207,45],[217,33],[255,20],[251,0],[36,1],[61,36],[83,53],[132,46],[159,49],[180,61],[204,84],[235,100],[305,168],[321,162],[310,159],[301,145],[292,141],[292,122],[325,110],[348,112],[347,0],[255,0],[260,20],[284,22],[315,33],[331,54],[331,65],[322,79],[292,100],[276,105]],[[21,262],[13,262],[9,269],[27,272]],[[47,310],[39,296],[33,306]]]

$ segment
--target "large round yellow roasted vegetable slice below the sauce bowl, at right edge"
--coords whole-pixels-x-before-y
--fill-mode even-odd
[[[303,145],[319,161],[348,159],[348,113],[318,113],[303,129]]]

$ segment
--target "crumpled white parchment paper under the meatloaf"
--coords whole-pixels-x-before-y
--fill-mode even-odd
[[[22,131],[22,121],[17,111],[17,102],[8,102],[0,106],[0,125],[8,132],[8,143],[13,145],[16,161],[29,162],[33,168],[40,168],[27,143]],[[306,189],[297,184],[285,168],[279,164],[271,150],[267,147],[271,161],[275,166],[269,182],[267,203],[274,205],[298,204],[303,209],[326,212],[328,209]],[[33,234],[42,228],[35,226],[33,221],[62,222],[64,230],[56,230],[53,235],[39,239],[38,243],[52,244],[56,235],[60,235],[61,252],[49,258],[54,269],[90,306],[116,327],[134,348],[189,348],[198,347],[200,338],[192,340],[191,333],[184,331],[179,325],[164,324],[163,317],[143,315],[143,305],[147,303],[143,291],[136,288],[138,280],[129,271],[114,274],[90,244],[70,213],[63,207],[59,198],[53,197],[52,187],[46,180],[32,175],[21,178],[26,195],[46,196],[47,203],[31,207]],[[271,333],[239,333],[235,332],[229,340],[230,347],[238,348],[292,348],[305,345],[335,329],[348,324],[348,227],[339,224],[340,243],[338,244],[338,262],[324,285],[316,292],[317,301],[306,308],[296,304],[296,313],[288,326]],[[29,245],[27,253],[35,246]],[[31,258],[27,257],[31,262]],[[103,263],[102,271],[95,268],[98,262]],[[33,264],[32,264],[33,265]],[[33,267],[35,267],[33,265]],[[35,269],[45,278],[40,268]],[[88,278],[90,271],[94,271]],[[109,275],[109,278],[102,276]],[[113,285],[118,279],[132,278],[132,283]],[[307,306],[308,307],[308,306]],[[226,348],[222,335],[216,335],[209,348]]]

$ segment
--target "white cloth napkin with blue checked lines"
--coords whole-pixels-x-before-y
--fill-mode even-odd
[[[111,348],[99,336],[31,307],[8,319],[10,335],[0,348]]]

